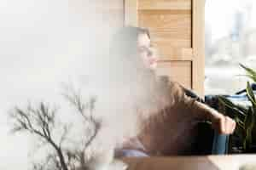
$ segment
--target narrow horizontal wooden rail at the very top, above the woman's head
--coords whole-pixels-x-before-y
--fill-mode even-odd
[[[191,0],[140,0],[138,9],[190,9]]]

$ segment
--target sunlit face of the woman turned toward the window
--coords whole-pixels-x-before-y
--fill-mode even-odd
[[[137,39],[138,54],[143,59],[143,64],[150,70],[155,70],[157,66],[157,56],[148,35],[140,34]]]

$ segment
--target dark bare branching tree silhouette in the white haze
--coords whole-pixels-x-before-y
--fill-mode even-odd
[[[73,89],[69,89],[64,96],[83,116],[84,124],[91,127],[91,133],[84,134],[81,139],[82,147],[77,150],[67,149],[63,146],[69,133],[67,125],[61,126],[61,138],[59,140],[54,138],[55,127],[60,127],[56,123],[57,110],[55,108],[41,102],[38,106],[28,105],[26,109],[15,107],[14,111],[11,111],[10,117],[15,122],[12,132],[26,132],[35,135],[54,150],[53,153],[46,156],[44,163],[34,164],[33,170],[74,170],[78,167],[86,167],[84,150],[96,138],[101,127],[101,122],[93,116],[96,98],[91,98],[89,102],[84,103],[81,94],[76,93]]]

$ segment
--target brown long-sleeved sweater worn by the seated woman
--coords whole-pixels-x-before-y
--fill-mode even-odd
[[[140,133],[124,144],[125,149],[143,150],[150,156],[188,154],[198,132],[196,123],[210,121],[218,114],[187,96],[179,83],[168,82],[167,87],[168,105],[142,119]]]

